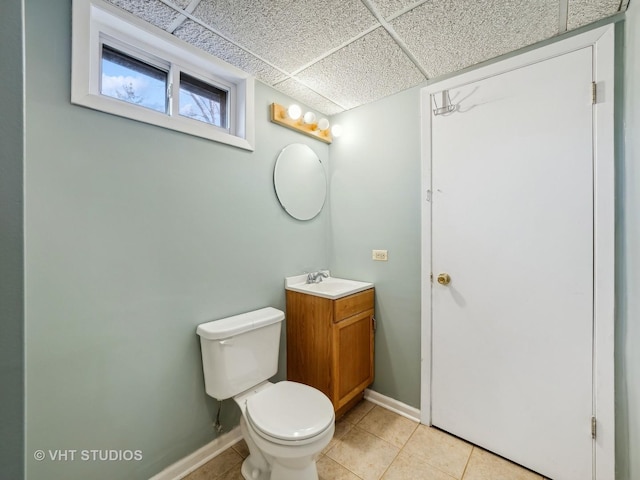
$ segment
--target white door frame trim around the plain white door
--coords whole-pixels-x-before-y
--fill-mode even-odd
[[[615,25],[578,34],[515,57],[434,82],[420,91],[422,158],[422,272],[421,272],[421,387],[420,421],[431,425],[431,114],[432,97],[443,90],[593,47],[593,81],[597,101],[593,108],[594,167],[594,339],[593,404],[597,435],[594,442],[594,479],[615,477],[614,417],[614,47]]]

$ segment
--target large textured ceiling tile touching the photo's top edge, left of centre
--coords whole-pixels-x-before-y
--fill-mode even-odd
[[[202,0],[193,14],[288,72],[376,24],[360,0]]]

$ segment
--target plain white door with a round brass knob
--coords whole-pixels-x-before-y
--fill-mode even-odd
[[[554,480],[592,478],[592,60],[450,90],[432,118],[431,421]]]

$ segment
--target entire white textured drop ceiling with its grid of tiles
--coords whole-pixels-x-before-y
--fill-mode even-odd
[[[629,0],[107,0],[325,115],[621,10]]]

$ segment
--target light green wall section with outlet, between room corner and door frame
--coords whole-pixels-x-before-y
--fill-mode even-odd
[[[376,286],[372,388],[420,407],[420,103],[413,88],[334,117],[331,269]],[[371,250],[386,249],[387,262]]]

